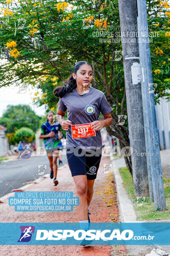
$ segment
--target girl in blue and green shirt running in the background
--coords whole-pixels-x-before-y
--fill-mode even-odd
[[[48,116],[47,116],[47,122],[45,122],[41,126],[41,134],[40,134],[40,139],[44,139],[44,145],[45,145],[45,150],[47,151],[47,156],[48,160],[50,163],[50,177],[51,179],[54,177],[53,180],[53,185],[57,186],[58,180],[57,180],[57,157],[59,150],[61,149],[62,143],[60,141],[61,133],[62,133],[62,128],[61,125],[57,122],[53,124],[53,116],[54,112],[49,111]],[[58,135],[58,131],[60,134]]]

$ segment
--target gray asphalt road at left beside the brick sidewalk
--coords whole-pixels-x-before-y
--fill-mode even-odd
[[[67,163],[66,156],[62,156],[62,165],[65,163]],[[62,166],[59,165],[59,159],[57,159],[57,165]],[[40,175],[37,175],[38,172]],[[0,163],[0,197],[48,173],[50,173],[50,166],[47,156]]]

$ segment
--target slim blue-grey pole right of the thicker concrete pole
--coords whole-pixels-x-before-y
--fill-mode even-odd
[[[150,159],[150,176],[153,186],[155,209],[159,208],[160,210],[166,210],[150,59],[147,6],[146,0],[136,0],[136,3],[139,34],[140,70],[142,78],[142,102],[145,127],[145,143],[148,145],[147,155]]]

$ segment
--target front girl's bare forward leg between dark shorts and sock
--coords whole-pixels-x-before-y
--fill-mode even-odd
[[[76,207],[79,221],[88,220],[88,204],[87,204],[87,176],[73,176],[76,185],[76,196],[79,197],[79,205]]]

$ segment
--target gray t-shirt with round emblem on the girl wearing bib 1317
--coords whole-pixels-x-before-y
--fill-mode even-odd
[[[67,110],[67,117],[71,121],[71,125],[86,124],[99,120],[100,112],[105,115],[112,111],[105,94],[94,87],[90,87],[88,93],[82,95],[77,93],[75,88],[72,92],[60,98],[57,105],[61,111],[65,112]],[[66,132],[66,146],[102,147],[100,130],[96,131],[96,136],[72,139],[71,125],[69,125]]]

